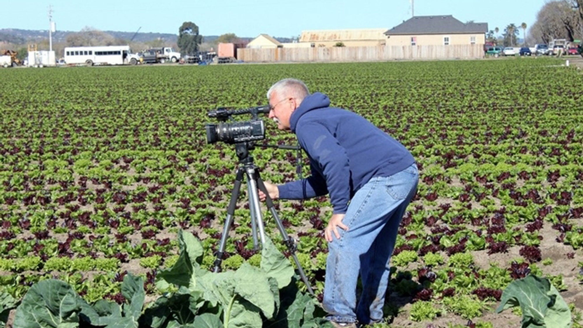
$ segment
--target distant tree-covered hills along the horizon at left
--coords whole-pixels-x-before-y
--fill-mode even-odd
[[[121,32],[121,31],[104,31],[114,38],[119,40],[132,40],[134,42],[148,42],[154,40],[164,40],[168,42],[176,42],[178,34],[170,33],[135,33],[135,32]],[[78,33],[77,31],[56,31],[52,33],[52,41],[55,43],[65,42],[66,38],[71,33]],[[215,41],[219,36],[203,36],[205,42]],[[20,29],[0,29],[0,42],[5,41],[9,43],[23,44],[29,42],[38,42],[48,38],[48,30],[20,30]],[[241,40],[251,41],[254,37],[240,37]],[[291,42],[290,38],[275,37],[276,40],[282,43]]]

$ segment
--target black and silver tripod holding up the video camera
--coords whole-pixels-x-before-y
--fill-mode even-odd
[[[236,143],[235,144],[235,151],[237,153],[237,157],[239,158],[240,166],[237,168],[235,183],[233,187],[233,191],[231,192],[231,199],[229,201],[229,207],[227,208],[227,217],[224,222],[223,227],[223,235],[220,239],[220,246],[219,251],[217,251],[217,259],[215,260],[214,266],[215,272],[220,270],[220,264],[223,262],[224,256],[224,249],[227,244],[227,237],[229,236],[229,229],[231,224],[233,224],[233,217],[235,206],[237,204],[237,198],[239,197],[239,192],[241,189],[241,183],[243,182],[243,175],[245,175],[247,179],[247,192],[249,195],[249,209],[251,211],[251,233],[253,235],[253,246],[254,249],[259,248],[258,236],[257,232],[259,232],[259,238],[261,239],[262,245],[265,243],[265,228],[263,224],[263,218],[261,214],[261,207],[259,206],[259,193],[257,192],[257,188],[261,189],[263,193],[266,195],[265,202],[267,204],[267,208],[273,218],[275,219],[275,223],[278,226],[278,230],[283,238],[283,244],[287,246],[287,249],[291,253],[291,256],[296,263],[298,272],[300,273],[301,280],[304,281],[306,287],[308,288],[308,292],[314,295],[314,291],[310,287],[310,282],[308,278],[305,276],[304,269],[300,265],[300,261],[297,259],[296,256],[296,244],[292,238],[287,235],[285,228],[283,227],[282,221],[279,219],[278,213],[273,206],[273,200],[269,197],[269,193],[265,188],[265,184],[261,177],[259,176],[259,169],[253,163],[253,157],[249,154],[249,150],[253,149],[254,145],[250,142],[243,142],[243,143]]]

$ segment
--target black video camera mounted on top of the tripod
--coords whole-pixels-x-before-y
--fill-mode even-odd
[[[206,142],[243,143],[265,139],[265,124],[262,119],[258,118],[258,114],[268,114],[269,110],[269,105],[263,105],[243,110],[217,108],[217,110],[209,111],[208,116],[216,117],[221,123],[205,125]],[[240,114],[251,114],[252,119],[250,121],[234,121],[233,115]],[[226,123],[227,119],[231,119],[234,122]]]

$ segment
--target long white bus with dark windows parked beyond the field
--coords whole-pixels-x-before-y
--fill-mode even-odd
[[[66,47],[66,64],[125,65],[128,64],[129,45],[104,45],[101,47]]]

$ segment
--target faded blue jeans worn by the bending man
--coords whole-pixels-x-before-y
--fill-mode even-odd
[[[389,259],[401,218],[417,189],[412,164],[390,177],[372,178],[350,200],[342,223],[349,229],[328,243],[324,301],[335,322],[380,322],[389,282]],[[356,302],[360,274],[363,291]]]

